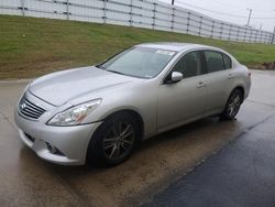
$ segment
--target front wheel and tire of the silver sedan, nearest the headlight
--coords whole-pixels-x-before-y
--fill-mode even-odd
[[[113,166],[124,162],[136,145],[139,124],[127,113],[116,113],[101,123],[94,133],[89,146],[88,162],[100,166]]]

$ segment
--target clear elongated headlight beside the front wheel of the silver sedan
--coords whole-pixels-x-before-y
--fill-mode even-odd
[[[63,112],[56,113],[48,122],[50,126],[76,126],[94,111],[101,102],[96,99],[89,102],[72,107]]]

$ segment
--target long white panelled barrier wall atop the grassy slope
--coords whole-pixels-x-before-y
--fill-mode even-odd
[[[88,21],[274,44],[274,33],[150,0],[1,0],[0,14]]]

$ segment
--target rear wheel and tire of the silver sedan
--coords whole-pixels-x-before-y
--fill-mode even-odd
[[[223,112],[220,115],[222,120],[233,120],[243,102],[243,94],[240,89],[234,89],[229,98]]]

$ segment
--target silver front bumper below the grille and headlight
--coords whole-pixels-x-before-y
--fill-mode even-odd
[[[86,162],[89,141],[101,122],[73,127],[53,127],[21,117],[15,109],[14,119],[22,141],[40,157],[63,165],[81,165]],[[47,143],[62,154],[53,154]]]

